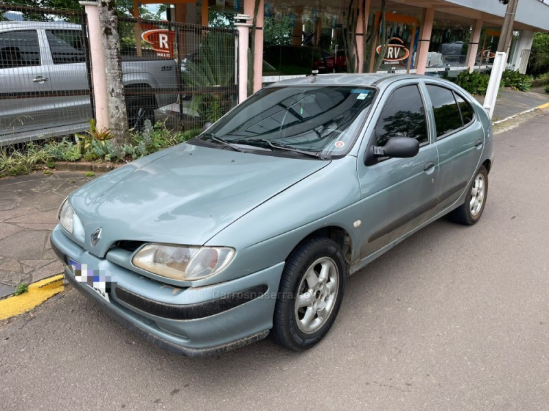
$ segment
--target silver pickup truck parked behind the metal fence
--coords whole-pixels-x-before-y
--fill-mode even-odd
[[[0,146],[82,132],[93,117],[82,26],[0,23]],[[177,63],[122,59],[130,127],[177,100]]]

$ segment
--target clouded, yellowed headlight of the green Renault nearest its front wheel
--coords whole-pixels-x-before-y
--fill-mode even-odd
[[[234,255],[229,247],[148,244],[135,254],[132,264],[163,277],[192,281],[219,273]]]

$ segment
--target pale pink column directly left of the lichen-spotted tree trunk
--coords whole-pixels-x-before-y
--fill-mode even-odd
[[[93,102],[95,104],[95,123],[97,129],[108,129],[108,95],[105,73],[105,51],[103,34],[99,24],[97,1],[80,1],[88,16],[88,37],[91,55],[91,77],[93,82]]]

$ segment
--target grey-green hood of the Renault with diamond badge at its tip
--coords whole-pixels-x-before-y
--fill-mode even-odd
[[[202,245],[327,164],[183,144],[98,177],[69,201],[85,238],[102,227],[104,249],[84,244],[94,253],[117,240]]]

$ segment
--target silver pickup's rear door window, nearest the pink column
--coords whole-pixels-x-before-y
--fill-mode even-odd
[[[54,64],[86,61],[81,32],[77,30],[46,30],[46,37]]]

